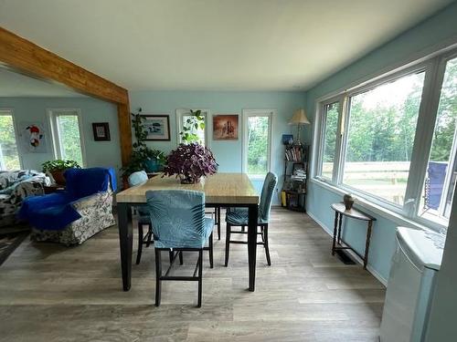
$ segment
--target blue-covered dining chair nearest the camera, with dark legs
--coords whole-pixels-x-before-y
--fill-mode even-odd
[[[155,250],[155,306],[160,306],[162,281],[197,281],[197,307],[202,301],[203,251],[209,242],[212,259],[214,220],[205,217],[205,193],[189,190],[157,190],[146,192],[146,201],[153,223]],[[162,274],[161,252],[172,259]],[[192,276],[169,275],[177,255],[183,251],[198,253]]]

